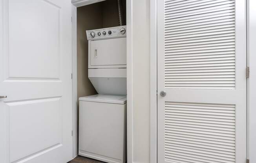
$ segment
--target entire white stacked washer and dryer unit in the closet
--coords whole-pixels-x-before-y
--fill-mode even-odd
[[[79,98],[79,155],[126,162],[126,26],[86,31],[88,78],[98,94]]]

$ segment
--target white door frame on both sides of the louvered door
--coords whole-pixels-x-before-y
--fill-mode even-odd
[[[256,90],[256,2],[246,2],[247,66],[250,66],[247,80],[247,158],[250,162],[256,162],[253,155],[256,152],[256,91],[252,91]],[[150,163],[157,163],[157,0],[150,0]]]

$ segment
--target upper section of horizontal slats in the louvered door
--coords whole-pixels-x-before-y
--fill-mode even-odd
[[[165,1],[165,88],[235,88],[234,18],[234,0]]]

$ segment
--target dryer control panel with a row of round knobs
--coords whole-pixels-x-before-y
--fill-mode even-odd
[[[126,37],[126,25],[86,31],[87,40]]]

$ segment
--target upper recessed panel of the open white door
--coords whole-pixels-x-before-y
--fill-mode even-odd
[[[5,23],[8,38],[5,39],[8,42],[8,77],[13,79],[60,78],[59,60],[62,53],[63,17],[62,7],[55,3],[37,0],[34,3],[9,1],[7,4],[6,16],[8,17],[5,18]],[[19,10],[26,7],[29,8],[29,12]],[[47,14],[44,11],[47,11]],[[37,13],[37,16],[29,13]],[[24,17],[27,19],[23,19]],[[22,33],[19,29],[23,29]],[[51,34],[50,39],[48,33]],[[26,42],[26,44],[20,42]]]

